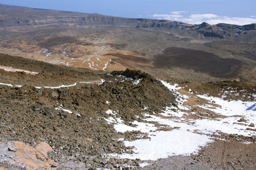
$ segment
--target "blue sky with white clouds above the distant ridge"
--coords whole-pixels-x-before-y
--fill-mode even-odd
[[[188,24],[256,23],[256,0],[0,0],[0,3]]]

